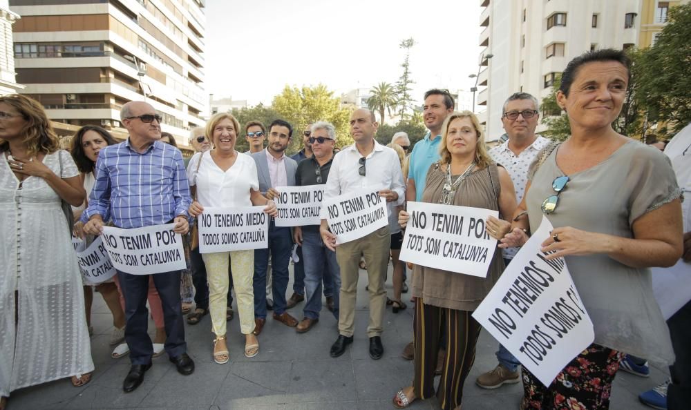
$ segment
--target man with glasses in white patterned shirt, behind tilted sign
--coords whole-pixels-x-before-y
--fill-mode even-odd
[[[504,102],[502,124],[509,139],[489,150],[489,155],[511,175],[516,191],[516,200],[523,199],[528,181],[528,167],[549,139],[536,135],[540,113],[538,100],[527,92],[515,92]],[[504,262],[508,265],[516,254],[516,248],[504,249]],[[483,373],[475,383],[484,389],[496,389],[505,383],[518,383],[518,359],[504,346],[499,345],[496,353],[499,364],[492,371]]]

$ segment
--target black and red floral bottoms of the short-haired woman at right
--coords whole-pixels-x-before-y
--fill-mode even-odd
[[[545,387],[523,367],[521,409],[599,410],[609,409],[614,375],[623,353],[591,344]]]

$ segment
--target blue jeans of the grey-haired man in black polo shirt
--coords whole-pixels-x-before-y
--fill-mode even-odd
[[[319,232],[303,231],[302,248],[305,256],[305,318],[319,319],[321,282],[323,280],[326,284],[328,277],[332,286],[341,289],[341,269],[339,269],[339,262],[336,260],[336,253],[324,246]],[[332,293],[334,296],[333,313],[337,322],[339,320],[339,293]]]

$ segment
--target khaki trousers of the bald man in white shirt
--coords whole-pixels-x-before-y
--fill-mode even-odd
[[[368,289],[370,294],[370,323],[367,336],[381,335],[384,311],[386,310],[386,291],[384,277],[388,266],[391,234],[388,226],[379,228],[358,240],[340,244],[336,248],[336,258],[341,266],[341,300],[339,303],[339,333],[350,337],[354,330],[355,301],[359,276],[360,254],[367,264]]]

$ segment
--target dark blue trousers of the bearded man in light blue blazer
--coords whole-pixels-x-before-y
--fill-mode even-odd
[[[274,296],[274,313],[285,312],[285,290],[288,287],[288,264],[293,249],[290,228],[276,226],[272,219],[269,223],[269,248],[254,251],[254,317],[266,318],[266,271],[271,252],[272,281],[271,292]]]

